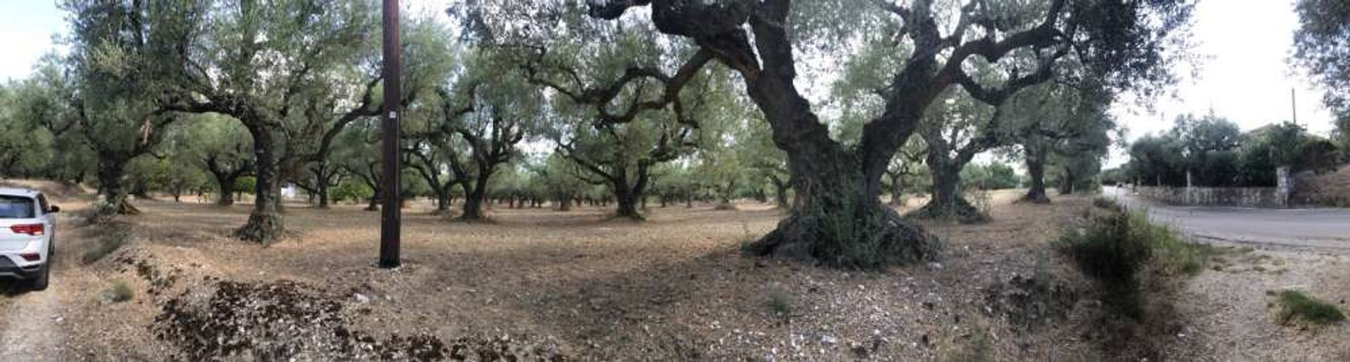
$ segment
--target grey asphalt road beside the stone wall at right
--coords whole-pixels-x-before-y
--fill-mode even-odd
[[[1149,217],[1200,238],[1350,252],[1350,209],[1247,209],[1165,206],[1107,187],[1103,195],[1129,207],[1146,206]]]

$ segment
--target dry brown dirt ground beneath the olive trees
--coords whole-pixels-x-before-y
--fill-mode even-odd
[[[359,206],[289,207],[286,223],[296,234],[258,246],[227,237],[247,206],[140,201],[144,214],[127,218],[130,244],[92,264],[82,264],[80,253],[109,231],[76,226],[74,213],[66,217],[54,287],[0,296],[0,359],[1350,357],[1343,324],[1291,330],[1274,326],[1264,305],[1231,303],[1234,295],[1264,300],[1266,288],[1288,287],[1266,283],[1266,272],[1237,260],[1262,250],[1233,253],[1226,269],[1160,291],[1179,295],[1181,304],[1150,323],[1157,326],[1131,330],[1106,320],[1094,284],[1048,246],[1092,209],[1089,199],[1058,196],[1034,206],[1013,203],[1015,195],[992,196],[990,223],[927,223],[948,242],[941,262],[882,273],[741,257],[738,245],[779,219],[761,203],[741,203],[737,211],[653,205],[641,223],[609,219],[599,207],[558,213],[498,205],[490,211],[494,223],[467,225],[413,205],[404,217],[404,266],[383,270],[374,268],[377,213]],[[88,202],[72,198],[62,206]],[[1350,277],[1345,257],[1336,258],[1326,265],[1339,270],[1285,264],[1281,276],[1316,275],[1300,280],[1315,295],[1345,297]],[[116,281],[132,287],[130,301],[104,296]],[[1241,320],[1207,318],[1224,312]]]

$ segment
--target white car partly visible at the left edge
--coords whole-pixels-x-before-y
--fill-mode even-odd
[[[0,277],[47,288],[59,211],[42,192],[0,187]]]

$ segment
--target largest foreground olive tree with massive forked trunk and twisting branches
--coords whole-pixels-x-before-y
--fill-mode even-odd
[[[471,3],[471,17],[481,19],[482,27],[504,43],[512,42],[505,38],[514,35],[513,30],[567,36],[575,34],[567,24],[594,22],[578,19],[567,4],[555,1],[483,3],[493,1]],[[629,11],[637,7],[648,11]],[[670,35],[649,46],[687,39],[684,44],[695,47],[682,62],[660,69],[632,67],[628,77],[595,87],[664,85],[664,92],[648,101],[613,112],[610,101],[618,100],[617,93],[589,93],[606,114],[678,106],[690,74],[714,61],[740,75],[745,93],[771,125],[775,145],[787,153],[796,191],[792,214],[755,242],[751,252],[848,268],[884,268],[933,258],[940,249],[936,237],[878,198],[880,175],[933,100],[949,86],[959,86],[981,102],[1002,104],[1022,87],[1048,79],[1065,57],[1081,58],[1112,86],[1161,81],[1166,78],[1166,59],[1160,48],[1170,31],[1185,23],[1189,5],[1119,0],[963,5],[932,0],[608,0],[587,1],[586,15],[618,23],[648,17],[648,28]],[[884,87],[878,89],[882,112],[864,125],[856,147],[845,147],[830,137],[795,78],[799,55],[814,48],[844,54],[855,40],[906,46],[894,47],[903,51],[903,66],[886,74]],[[972,62],[994,63],[1010,77],[999,83],[977,82],[968,74]]]

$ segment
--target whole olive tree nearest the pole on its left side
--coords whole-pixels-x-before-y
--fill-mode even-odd
[[[269,244],[284,230],[282,171],[293,170],[284,159],[288,137],[313,135],[288,129],[304,116],[301,98],[329,87],[325,75],[354,63],[378,39],[371,3],[321,3],[186,1],[182,7],[190,8],[185,12],[194,16],[189,23],[196,28],[176,39],[176,51],[157,59],[173,66],[163,109],[225,114],[252,137],[254,209],[235,231],[247,241]]]

